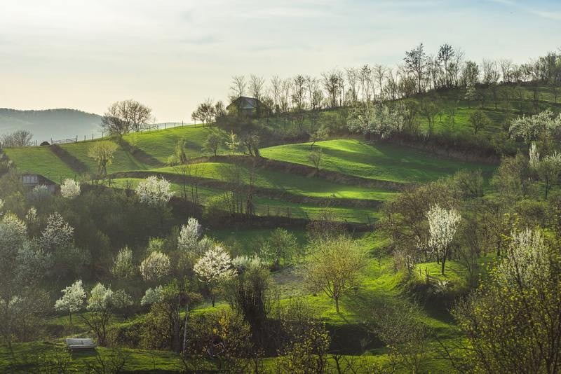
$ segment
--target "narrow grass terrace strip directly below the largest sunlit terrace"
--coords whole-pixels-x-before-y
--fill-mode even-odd
[[[234,165],[219,162],[206,162],[194,165],[198,170],[198,176],[219,181],[228,181],[232,174]],[[177,174],[173,167],[153,169],[154,172]],[[241,180],[248,183],[250,170],[243,165],[239,166]],[[255,172],[255,186],[262,188],[273,188],[279,191],[295,195],[311,196],[315,198],[346,198],[363,200],[390,200],[395,191],[383,188],[366,188],[360,186],[349,186],[342,183],[334,183],[321,178],[306,177],[288,172],[277,172],[276,170],[259,168]]]

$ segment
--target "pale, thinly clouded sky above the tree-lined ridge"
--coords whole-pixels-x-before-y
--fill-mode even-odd
[[[102,114],[136,99],[190,122],[234,75],[396,67],[421,42],[520,63],[560,35],[559,0],[0,0],[0,107]]]

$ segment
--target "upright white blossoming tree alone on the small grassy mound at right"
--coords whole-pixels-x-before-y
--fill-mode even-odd
[[[440,205],[433,205],[426,212],[428,219],[428,249],[433,251],[437,261],[442,265],[442,275],[444,275],[446,258],[450,254],[450,247],[454,235],[458,230],[461,216],[456,209],[445,209]]]

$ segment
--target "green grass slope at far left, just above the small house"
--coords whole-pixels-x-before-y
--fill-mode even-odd
[[[76,176],[76,172],[46,146],[6,148],[4,152],[20,172],[41,174],[55,183]]]

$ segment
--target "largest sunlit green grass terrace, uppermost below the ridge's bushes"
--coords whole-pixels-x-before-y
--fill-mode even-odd
[[[384,181],[426,183],[460,169],[482,169],[489,172],[493,165],[438,158],[429,153],[394,144],[365,144],[358,140],[320,141],[323,151],[321,169]],[[276,160],[312,166],[308,160],[309,143],[287,144],[264,148],[262,155]]]

